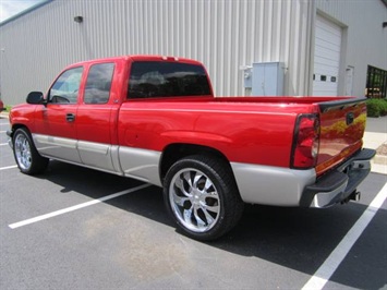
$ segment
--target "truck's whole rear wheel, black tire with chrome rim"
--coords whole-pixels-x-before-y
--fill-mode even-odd
[[[164,200],[178,227],[199,241],[216,240],[230,231],[244,207],[229,165],[202,155],[171,166],[164,182]]]

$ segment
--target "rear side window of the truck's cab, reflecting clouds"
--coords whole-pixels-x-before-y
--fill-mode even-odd
[[[114,63],[94,64],[87,75],[85,104],[106,104],[109,100]]]

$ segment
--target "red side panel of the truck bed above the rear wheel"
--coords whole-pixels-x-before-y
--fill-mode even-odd
[[[235,162],[288,167],[295,117],[294,110],[271,104],[128,101],[120,110],[119,143],[158,152],[188,143],[215,148]]]

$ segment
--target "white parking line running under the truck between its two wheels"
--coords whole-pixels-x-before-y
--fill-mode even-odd
[[[118,192],[118,193],[113,193],[113,194],[110,194],[108,196],[105,196],[105,197],[101,197],[101,198],[98,198],[98,200],[94,200],[94,201],[90,201],[90,202],[87,202],[87,203],[83,203],[83,204],[78,204],[78,205],[75,205],[75,206],[66,207],[66,208],[63,208],[63,209],[60,209],[60,210],[57,210],[57,212],[52,212],[50,214],[46,214],[46,215],[43,215],[43,216],[37,216],[35,218],[22,220],[22,221],[9,225],[9,227],[11,229],[16,229],[16,228],[20,228],[20,227],[23,227],[23,226],[27,226],[27,225],[31,225],[31,223],[34,223],[34,222],[37,222],[37,221],[40,221],[40,220],[45,220],[45,219],[48,219],[48,218],[51,218],[51,217],[60,216],[60,215],[63,215],[63,214],[66,214],[66,213],[70,213],[70,212],[73,212],[73,210],[76,210],[76,209],[81,209],[81,208],[84,208],[86,206],[99,204],[99,203],[109,201],[111,198],[119,197],[121,195],[124,195],[124,194],[128,194],[128,193],[131,193],[131,192],[143,190],[143,189],[148,188],[148,186],[150,186],[150,184],[143,184],[143,185],[136,186],[134,189],[130,189],[130,190],[121,191],[121,192]]]

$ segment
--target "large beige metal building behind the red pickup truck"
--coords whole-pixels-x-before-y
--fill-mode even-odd
[[[1,23],[0,49],[7,105],[66,64],[148,53],[202,61],[217,96],[386,97],[387,0],[51,0]]]

